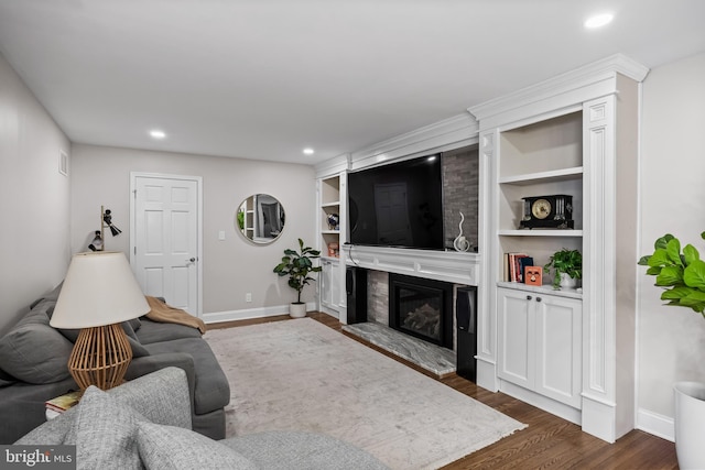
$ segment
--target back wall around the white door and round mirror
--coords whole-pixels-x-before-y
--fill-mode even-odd
[[[315,240],[315,173],[312,166],[242,159],[151,152],[75,144],[72,150],[72,251],[87,251],[100,228],[100,206],[112,211],[118,237],[106,232],[107,250],[130,248],[130,172],[203,177],[203,313],[286,305],[295,292],[272,272],[285,248],[297,239]],[[272,244],[253,245],[236,232],[236,212],[256,193],[276,197],[286,214],[282,236]],[[226,240],[218,240],[218,232]],[[252,302],[246,303],[246,293]],[[305,287],[306,302],[315,286]]]

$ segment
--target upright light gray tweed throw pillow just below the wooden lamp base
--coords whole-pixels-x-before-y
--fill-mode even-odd
[[[78,469],[139,469],[138,423],[147,418],[96,386],[86,389],[65,444],[76,445]]]

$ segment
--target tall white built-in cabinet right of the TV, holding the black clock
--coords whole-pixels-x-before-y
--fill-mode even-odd
[[[639,87],[615,55],[469,111],[479,121],[478,385],[607,441],[634,427]],[[521,230],[522,197],[573,196],[571,230]],[[503,254],[583,253],[581,291],[505,282]],[[544,278],[544,284],[550,284]]]

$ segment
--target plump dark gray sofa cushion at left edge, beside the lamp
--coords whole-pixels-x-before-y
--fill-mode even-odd
[[[43,300],[44,302],[44,300]],[[13,378],[33,384],[65,380],[73,345],[33,309],[0,338],[0,363]]]

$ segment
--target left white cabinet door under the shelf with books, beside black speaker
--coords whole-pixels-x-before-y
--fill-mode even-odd
[[[534,321],[533,295],[497,289],[500,379],[533,389]]]

